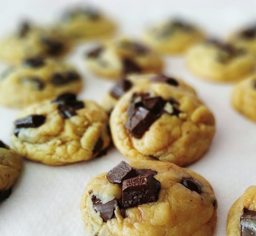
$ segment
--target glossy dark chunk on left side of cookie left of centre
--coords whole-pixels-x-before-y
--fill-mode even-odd
[[[44,115],[29,115],[14,122],[15,128],[37,128],[44,124]]]

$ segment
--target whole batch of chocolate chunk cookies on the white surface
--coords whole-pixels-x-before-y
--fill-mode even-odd
[[[66,165],[104,155],[114,144],[132,162],[87,184],[81,213],[90,235],[211,236],[218,206],[212,186],[182,167],[210,147],[214,115],[194,88],[162,73],[162,56],[185,55],[203,79],[239,82],[232,105],[255,122],[256,27],[225,42],[178,19],[152,25],[140,42],[113,39],[116,28],[99,10],[76,7],[51,28],[24,22],[1,39],[0,59],[9,67],[0,75],[0,104],[22,111],[13,125],[15,151],[0,141],[0,201],[20,174],[20,156]],[[101,105],[77,98],[83,78],[64,59],[89,41],[100,43],[86,53],[87,68],[116,81]],[[256,235],[255,195],[256,187],[248,188],[230,209],[228,236]]]

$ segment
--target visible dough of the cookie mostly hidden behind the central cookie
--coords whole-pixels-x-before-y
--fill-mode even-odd
[[[148,85],[150,83],[161,83],[161,82],[156,82],[156,81],[151,81],[151,78],[153,78],[154,76],[157,76],[156,74],[145,74],[145,75],[127,75],[125,77],[126,80],[130,81],[132,83],[132,87],[135,86],[144,86],[144,85]],[[172,76],[171,76],[172,77]],[[173,77],[172,77],[173,78]],[[174,85],[170,85],[170,86],[174,86],[176,88],[179,88],[181,90],[185,90],[188,92],[191,92],[193,94],[196,94],[196,91],[194,90],[194,88],[192,88],[190,85],[188,85],[187,83],[185,83],[183,80],[178,79],[178,78],[174,78],[177,82],[178,82],[178,86],[174,86]],[[131,87],[131,89],[132,89]],[[116,103],[118,102],[119,99],[111,96],[111,91],[108,91],[102,98],[102,106],[103,108],[110,113],[113,108],[116,106]],[[128,91],[127,91],[128,92]]]

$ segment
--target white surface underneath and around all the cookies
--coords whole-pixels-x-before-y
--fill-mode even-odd
[[[6,33],[25,16],[38,22],[51,22],[67,2],[1,0],[0,34]],[[122,26],[122,32],[137,36],[148,22],[179,14],[201,23],[210,35],[224,36],[236,26],[255,20],[256,7],[255,0],[95,0],[91,3],[112,13]],[[80,97],[100,102],[111,83],[93,77],[84,68],[83,54],[88,47],[90,45],[77,48],[70,60],[86,77]],[[256,126],[231,109],[232,86],[197,80],[185,69],[181,58],[169,57],[166,62],[166,72],[179,75],[192,84],[216,117],[217,133],[209,152],[189,168],[204,176],[215,190],[219,204],[215,235],[222,236],[225,235],[228,209],[248,186],[256,185]],[[8,144],[11,144],[12,122],[17,113],[17,110],[0,107],[0,139]],[[11,197],[0,205],[0,235],[88,235],[79,210],[83,189],[91,177],[108,171],[121,160],[125,158],[116,150],[100,159],[64,167],[48,167],[24,160],[23,171]]]

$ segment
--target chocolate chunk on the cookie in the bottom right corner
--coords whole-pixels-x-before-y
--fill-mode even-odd
[[[256,211],[244,208],[240,225],[242,236],[256,236]]]

